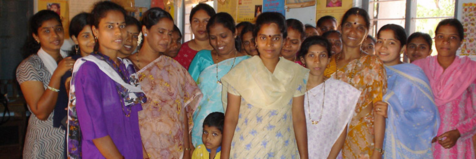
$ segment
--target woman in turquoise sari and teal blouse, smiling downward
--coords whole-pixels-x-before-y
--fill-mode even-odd
[[[221,77],[239,62],[248,59],[239,48],[235,20],[227,13],[218,13],[206,25],[213,50],[201,50],[193,58],[188,72],[203,93],[202,101],[193,114],[192,143],[202,144],[203,122],[215,111],[224,112],[221,104]]]

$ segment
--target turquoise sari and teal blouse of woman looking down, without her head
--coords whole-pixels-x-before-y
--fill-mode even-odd
[[[231,58],[218,63],[218,79],[221,79],[230,71],[233,61],[235,61],[234,66],[236,66],[239,62],[248,58],[249,56],[240,56],[236,59]],[[205,117],[215,111],[224,111],[221,104],[221,84],[217,82],[217,64],[213,64],[211,51],[202,50],[198,52],[188,70],[204,94],[193,114],[192,143],[196,147],[203,144],[202,131]]]

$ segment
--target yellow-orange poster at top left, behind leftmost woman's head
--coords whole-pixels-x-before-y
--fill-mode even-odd
[[[63,23],[63,30],[65,31],[65,39],[69,38],[69,10],[68,0],[38,0],[37,11],[51,10],[56,12]]]

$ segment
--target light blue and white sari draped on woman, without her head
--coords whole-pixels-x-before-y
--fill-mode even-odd
[[[431,140],[440,115],[428,79],[414,64],[386,66],[389,103],[385,129],[385,159],[432,159]]]

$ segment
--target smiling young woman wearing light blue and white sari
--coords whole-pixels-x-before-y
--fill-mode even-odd
[[[374,107],[376,114],[387,117],[383,150],[377,151],[385,159],[431,159],[440,115],[423,70],[400,61],[406,38],[405,30],[394,24],[377,34],[375,52],[388,76],[387,94]]]

